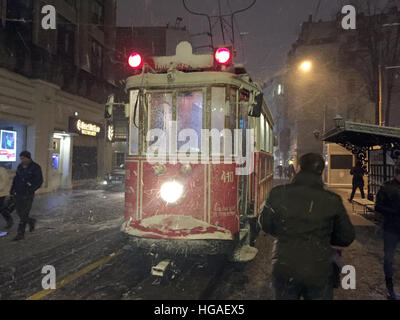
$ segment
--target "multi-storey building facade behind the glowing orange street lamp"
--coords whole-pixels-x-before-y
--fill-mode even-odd
[[[379,63],[390,64],[384,60],[385,55],[394,57],[392,64],[400,61],[400,46],[393,45],[400,29],[386,28],[385,33],[380,33],[383,32],[381,25],[390,24],[398,17],[396,8],[388,8],[376,16],[359,14],[356,30],[342,28],[342,15],[333,21],[318,22],[310,16],[303,23],[282,75],[267,83],[265,89],[270,105],[278,106],[278,119],[283,118],[281,126],[278,121],[276,132],[280,137],[276,151],[280,161],[293,161],[297,166],[303,154],[323,154],[328,167],[325,182],[337,187],[351,185],[349,171],[355,158],[339,145],[324,143],[322,136],[334,127],[337,116],[348,121],[378,124],[379,81],[383,88],[383,123],[400,125],[397,117],[400,73],[391,73],[400,69],[382,68],[386,72],[382,72],[381,79],[378,77]],[[371,42],[376,39],[379,42]],[[374,46],[373,51],[370,47]],[[389,76],[393,76],[390,99]],[[388,114],[390,117],[385,119]]]

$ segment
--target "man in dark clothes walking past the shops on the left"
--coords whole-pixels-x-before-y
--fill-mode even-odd
[[[16,210],[20,222],[18,234],[13,241],[24,239],[26,225],[29,231],[35,229],[36,220],[29,217],[36,190],[43,184],[42,169],[35,163],[28,151],[22,151],[19,155],[21,163],[18,165],[10,195],[15,197]]]

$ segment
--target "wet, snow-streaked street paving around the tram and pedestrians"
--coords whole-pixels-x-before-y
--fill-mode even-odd
[[[339,194],[346,199],[348,190]],[[344,202],[356,241],[343,250],[345,264],[357,270],[356,290],[335,290],[335,299],[385,299],[381,230]],[[269,300],[273,238],[261,233],[259,253],[247,264],[222,259],[177,259],[173,279],[159,283],[150,275],[155,257],[132,248],[120,231],[124,194],[73,190],[38,196],[34,233],[12,242],[16,226],[0,238],[0,299],[116,300]],[[18,220],[18,219],[16,219]],[[0,231],[4,226],[0,221]],[[400,254],[400,253],[398,253]],[[43,290],[42,268],[54,266],[56,290]],[[396,260],[395,270],[399,269]],[[396,271],[395,281],[400,274]]]

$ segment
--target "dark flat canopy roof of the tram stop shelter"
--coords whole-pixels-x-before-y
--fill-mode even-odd
[[[387,146],[400,150],[400,128],[343,120],[336,128],[326,132],[322,140],[359,148]]]

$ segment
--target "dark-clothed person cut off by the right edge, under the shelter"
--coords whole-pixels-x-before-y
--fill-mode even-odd
[[[376,196],[375,210],[383,216],[383,246],[387,298],[396,300],[393,287],[393,262],[400,242],[400,160],[395,166],[395,178],[383,184]]]

